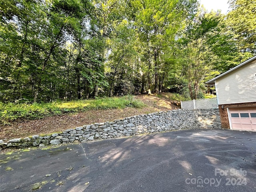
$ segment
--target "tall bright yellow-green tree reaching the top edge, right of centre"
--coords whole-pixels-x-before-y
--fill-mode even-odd
[[[141,58],[146,64],[145,80],[148,90],[159,93],[163,78],[161,65],[164,64],[164,54],[170,44],[173,44],[178,30],[183,27],[183,20],[196,1],[154,0],[131,2],[134,10],[134,25],[141,44]],[[186,4],[186,7],[184,7]],[[193,9],[192,8],[192,9]],[[152,86],[153,84],[153,86]]]

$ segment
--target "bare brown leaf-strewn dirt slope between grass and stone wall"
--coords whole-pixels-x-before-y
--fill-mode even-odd
[[[38,120],[15,121],[12,122],[11,125],[0,127],[0,139],[4,139],[4,141],[6,141],[12,138],[23,138],[38,134],[50,134],[87,124],[113,121],[134,115],[180,108],[164,96],[159,98],[154,95],[139,95],[136,96],[136,98],[144,102],[147,106],[144,108],[129,107],[124,109],[89,110],[78,114],[52,116]]]

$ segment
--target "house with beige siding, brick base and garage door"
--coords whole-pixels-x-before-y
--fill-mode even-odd
[[[256,56],[206,83],[215,84],[222,128],[256,131]]]

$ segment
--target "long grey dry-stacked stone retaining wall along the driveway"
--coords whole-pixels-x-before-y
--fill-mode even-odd
[[[160,131],[190,128],[221,128],[218,109],[172,110],[146,115],[137,115],[113,122],[84,125],[50,135],[34,135],[26,138],[0,140],[0,148],[29,146],[43,147],[61,143],[87,142],[106,138],[132,136]]]

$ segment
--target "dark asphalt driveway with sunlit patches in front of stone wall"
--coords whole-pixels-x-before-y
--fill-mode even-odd
[[[1,192],[256,191],[256,132],[181,130],[1,160]]]

